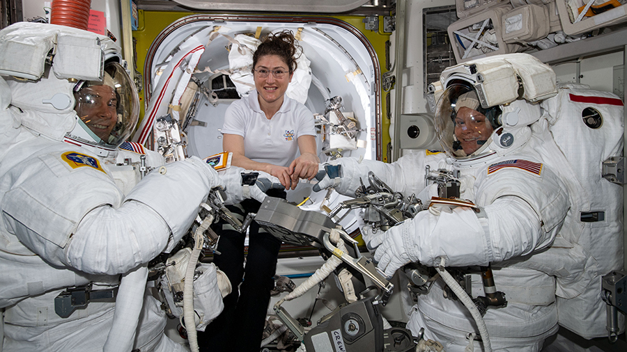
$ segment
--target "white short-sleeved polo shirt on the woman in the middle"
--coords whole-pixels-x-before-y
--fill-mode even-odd
[[[316,136],[314,114],[284,95],[281,109],[268,120],[259,107],[257,91],[252,90],[226,109],[222,134],[244,137],[244,154],[252,161],[290,166],[298,151],[298,137]]]

